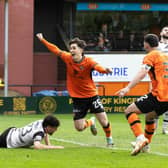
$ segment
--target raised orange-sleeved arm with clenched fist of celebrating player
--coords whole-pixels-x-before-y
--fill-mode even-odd
[[[36,37],[50,50],[52,53],[54,53],[57,56],[60,56],[62,54],[62,50],[59,49],[56,45],[48,42],[44,37],[42,33],[37,33]]]

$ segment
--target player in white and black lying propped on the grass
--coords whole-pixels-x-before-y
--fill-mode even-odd
[[[31,147],[34,149],[63,149],[63,146],[50,144],[48,135],[52,135],[60,126],[59,120],[48,115],[43,120],[34,121],[24,127],[10,127],[0,135],[1,148]],[[44,139],[45,144],[41,141]]]

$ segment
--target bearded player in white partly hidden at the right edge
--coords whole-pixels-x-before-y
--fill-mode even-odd
[[[168,54],[168,26],[162,28],[160,32],[159,50]],[[158,125],[158,119],[156,119]],[[163,114],[162,133],[168,134],[168,111]]]

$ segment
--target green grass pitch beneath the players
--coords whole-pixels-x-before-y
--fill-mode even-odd
[[[61,127],[51,137],[52,144],[63,150],[0,149],[0,168],[162,168],[168,163],[168,136],[161,134],[162,119],[153,138],[150,153],[130,156],[135,140],[124,114],[108,114],[115,147],[106,148],[105,136],[97,123],[98,135],[90,130],[77,132],[71,114],[57,114]],[[24,126],[44,115],[0,116],[0,132],[10,126]],[[90,115],[88,115],[90,117]],[[141,119],[143,122],[143,115]]]

